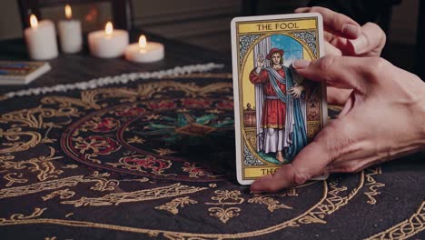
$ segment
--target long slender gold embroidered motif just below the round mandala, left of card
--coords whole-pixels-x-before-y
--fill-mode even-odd
[[[208,189],[206,187],[194,187],[189,185],[167,185],[152,189],[143,189],[134,192],[109,194],[102,197],[82,197],[74,201],[64,201],[62,204],[78,206],[120,205],[123,203],[142,202],[153,199],[161,199],[176,195],[186,195]]]

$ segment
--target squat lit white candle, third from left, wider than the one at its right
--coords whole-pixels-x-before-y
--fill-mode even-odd
[[[128,33],[125,30],[114,30],[108,22],[104,31],[95,31],[88,35],[88,43],[92,55],[103,58],[118,57],[124,54],[128,45]]]

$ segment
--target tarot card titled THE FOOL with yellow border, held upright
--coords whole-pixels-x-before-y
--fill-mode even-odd
[[[231,27],[237,176],[249,185],[291,163],[326,124],[326,85],[292,67],[324,54],[323,26],[319,14],[296,14],[236,17]]]

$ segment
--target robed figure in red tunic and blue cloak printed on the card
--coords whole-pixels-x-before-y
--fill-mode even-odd
[[[257,67],[250,74],[256,88],[257,151],[276,153],[281,162],[291,162],[307,145],[305,100],[302,79],[294,79],[292,69],[283,65],[284,51],[272,48],[264,67],[263,55],[257,56]],[[258,88],[258,89],[257,89]]]

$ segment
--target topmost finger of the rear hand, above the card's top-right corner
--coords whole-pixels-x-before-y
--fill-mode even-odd
[[[361,35],[361,25],[347,15],[333,12],[321,6],[301,7],[295,9],[295,13],[319,13],[323,18],[324,30],[333,35],[356,39]]]

